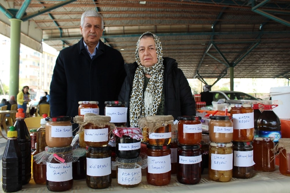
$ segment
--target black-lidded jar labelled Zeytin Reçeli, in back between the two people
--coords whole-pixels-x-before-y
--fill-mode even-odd
[[[111,123],[116,127],[126,127],[127,123],[126,101],[106,101],[105,115],[111,117]]]

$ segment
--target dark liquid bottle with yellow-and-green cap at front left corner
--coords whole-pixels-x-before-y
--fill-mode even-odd
[[[7,143],[2,157],[2,188],[4,192],[16,192],[22,188],[21,153],[15,127],[9,127]]]

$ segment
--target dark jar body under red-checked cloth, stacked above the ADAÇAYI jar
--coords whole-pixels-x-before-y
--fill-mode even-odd
[[[117,157],[124,159],[137,158],[141,150],[141,139],[133,139],[130,136],[123,135],[116,137],[116,154]]]

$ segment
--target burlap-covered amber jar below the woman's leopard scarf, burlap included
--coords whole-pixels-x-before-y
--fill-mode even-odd
[[[142,128],[143,141],[150,145],[167,145],[171,141],[173,127],[172,115],[153,115],[138,119]]]

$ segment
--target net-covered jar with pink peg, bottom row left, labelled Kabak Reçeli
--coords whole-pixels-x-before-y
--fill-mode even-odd
[[[73,156],[73,147],[49,148],[48,154],[57,154],[58,157],[65,160],[60,163],[55,159],[46,162],[46,187],[52,192],[62,192],[70,190],[73,187],[73,166],[72,162],[67,162]]]

